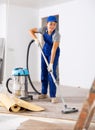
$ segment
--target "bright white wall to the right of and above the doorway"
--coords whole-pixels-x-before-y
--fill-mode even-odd
[[[60,84],[90,88],[95,76],[95,1],[71,0],[40,10],[40,17],[59,14]]]

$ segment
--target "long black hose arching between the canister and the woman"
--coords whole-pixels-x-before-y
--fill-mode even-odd
[[[28,48],[27,48],[26,67],[27,67],[28,71],[29,71],[29,66],[28,66],[29,50],[30,50],[30,46],[32,45],[33,42],[34,42],[34,40],[31,40],[31,42],[29,43]],[[32,83],[32,80],[31,80],[31,77],[30,77],[30,73],[29,73],[29,75],[28,75],[28,79],[29,79],[29,82],[30,82],[31,87],[33,88],[33,90],[34,90],[37,94],[41,94],[41,93],[34,87],[34,85],[33,85],[33,83]]]

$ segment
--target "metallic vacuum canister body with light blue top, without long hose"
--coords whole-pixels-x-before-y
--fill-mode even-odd
[[[33,99],[33,96],[28,92],[28,76],[29,71],[27,68],[14,68],[12,71],[12,77],[9,80],[13,80],[12,91],[9,87],[9,80],[7,80],[7,90],[11,94],[14,94],[20,99]]]

